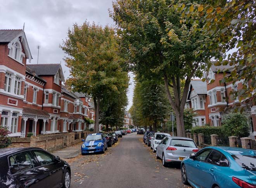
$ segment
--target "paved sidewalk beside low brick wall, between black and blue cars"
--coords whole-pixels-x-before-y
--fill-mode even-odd
[[[61,159],[72,159],[81,153],[81,144],[77,143],[76,145],[72,145],[70,147],[63,148],[61,150],[56,150],[51,152],[55,156],[59,156]]]

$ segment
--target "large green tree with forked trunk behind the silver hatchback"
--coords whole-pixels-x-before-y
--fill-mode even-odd
[[[110,12],[121,38],[121,50],[130,57],[126,62],[129,67],[138,76],[152,76],[164,81],[168,100],[176,115],[178,136],[185,136],[183,110],[190,79],[201,78],[214,57],[214,52],[209,52],[203,45],[211,42],[209,36],[202,34],[203,24],[194,17],[182,22],[183,13],[176,10],[177,3],[191,2],[117,0]],[[182,80],[185,80],[183,91]]]

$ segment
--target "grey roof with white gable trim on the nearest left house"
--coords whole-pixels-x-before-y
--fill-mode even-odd
[[[22,29],[0,29],[0,43],[9,43],[8,48],[11,48],[12,42],[15,42],[21,37],[21,43],[23,45],[26,57],[31,62],[32,55],[28,46],[26,34]]]

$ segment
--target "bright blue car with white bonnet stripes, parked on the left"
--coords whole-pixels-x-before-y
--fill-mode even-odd
[[[82,140],[83,144],[81,146],[82,155],[89,153],[104,153],[107,149],[107,140],[102,133],[93,133],[86,137],[85,140]]]

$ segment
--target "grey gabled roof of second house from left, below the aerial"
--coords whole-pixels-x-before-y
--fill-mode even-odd
[[[61,64],[27,64],[38,76],[54,76],[59,71],[61,81],[64,81],[64,74]]]

